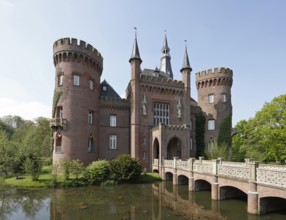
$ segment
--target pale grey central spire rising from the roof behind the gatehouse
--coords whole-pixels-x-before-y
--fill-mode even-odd
[[[169,54],[170,48],[168,46],[166,35],[165,35],[165,39],[164,39],[164,43],[163,43],[163,47],[161,51],[162,51],[162,57],[161,57],[160,71],[166,73],[168,76],[170,76],[171,79],[173,79],[171,56]]]

